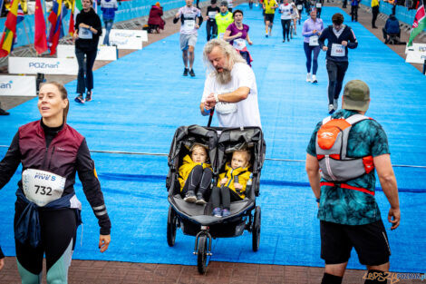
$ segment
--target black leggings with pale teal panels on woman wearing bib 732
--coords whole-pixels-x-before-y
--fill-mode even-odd
[[[15,203],[15,223],[26,204]],[[23,283],[39,283],[46,257],[47,283],[67,283],[68,268],[73,256],[77,232],[77,217],[73,209],[39,210],[41,243],[33,248],[15,240],[18,270]]]

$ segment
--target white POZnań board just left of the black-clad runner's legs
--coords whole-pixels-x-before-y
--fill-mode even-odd
[[[9,73],[76,75],[78,64],[77,60],[72,58],[9,56]]]

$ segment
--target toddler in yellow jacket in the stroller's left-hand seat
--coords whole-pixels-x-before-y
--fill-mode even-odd
[[[179,167],[179,184],[184,201],[200,205],[207,203],[205,196],[213,176],[211,165],[207,161],[207,149],[199,144],[192,147],[190,156],[183,158]]]

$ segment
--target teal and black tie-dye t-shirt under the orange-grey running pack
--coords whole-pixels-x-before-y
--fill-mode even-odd
[[[332,115],[332,118],[348,118],[357,112],[340,110]],[[315,138],[316,132],[321,127],[319,122],[312,134],[311,141],[306,152],[316,157]],[[382,126],[374,120],[364,120],[353,125],[348,137],[347,156],[373,157],[389,154],[389,145],[386,133]],[[375,171],[365,173],[363,176],[346,181],[354,187],[374,191]],[[325,181],[322,179],[321,181]],[[342,189],[340,186],[322,186],[318,219],[344,225],[363,225],[381,220],[379,207],[374,196],[362,191]]]

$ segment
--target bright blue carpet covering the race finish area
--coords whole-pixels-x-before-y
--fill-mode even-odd
[[[282,43],[281,25],[276,16],[273,36],[265,38],[261,11],[245,12],[254,45],[259,105],[266,136],[266,157],[304,160],[305,147],[315,123],[327,115],[327,74],[324,53],[320,54],[318,84],[305,83],[305,54],[301,26],[290,43]],[[325,24],[339,8],[325,7]],[[344,14],[345,15],[345,14]],[[345,16],[348,18],[348,16]],[[305,15],[304,15],[305,19]],[[421,91],[425,77],[394,54],[361,24],[349,23],[360,44],[349,51],[350,65],[345,82],[362,79],[370,85],[372,103],[368,115],[388,133],[392,162],[400,165],[426,165],[426,99]],[[183,71],[179,34],[173,34],[141,51],[129,54],[94,72],[93,102],[72,102],[68,122],[87,139],[92,150],[127,152],[169,152],[173,133],[179,125],[207,124],[199,115],[205,69],[201,51],[206,43],[205,25],[200,29],[194,65],[197,77],[181,76]],[[66,85],[70,97],[76,82]],[[11,142],[17,128],[39,119],[36,101],[11,110],[0,120],[0,144]],[[216,125],[216,118],[213,125]],[[0,148],[0,157],[6,148]],[[79,230],[74,259],[121,260],[147,263],[193,265],[194,238],[180,231],[177,244],[166,242],[168,211],[165,176],[167,159],[159,156],[93,153],[102,190],[111,216],[110,250],[97,249],[99,228],[82,194],[83,232]],[[392,271],[426,272],[426,170],[395,167],[402,207],[402,224],[388,230],[392,248]],[[13,216],[16,182],[20,171],[1,192],[0,243],[5,254],[15,255]],[[251,235],[221,239],[213,243],[212,260],[323,266],[320,259],[319,222],[314,196],[307,185],[303,162],[266,161],[262,172],[262,236],[258,252],[251,250]],[[377,201],[386,220],[389,205],[382,191]],[[385,222],[385,227],[390,226]],[[81,234],[82,232],[82,234]],[[82,241],[82,245],[81,245]],[[232,247],[234,250],[228,250]],[[348,265],[363,269],[355,252]]]

